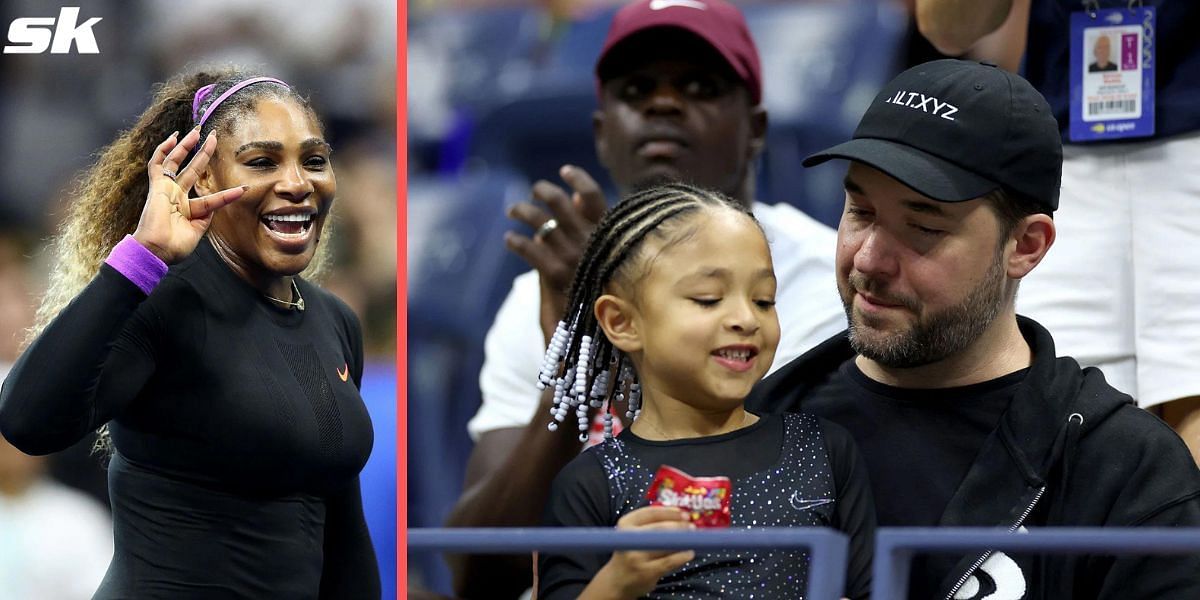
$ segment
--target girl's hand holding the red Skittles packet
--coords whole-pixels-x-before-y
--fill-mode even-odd
[[[688,514],[673,506],[642,506],[617,521],[625,530],[695,529]],[[583,590],[581,598],[641,598],[649,594],[664,575],[696,558],[696,552],[630,550],[613,552],[608,563]]]

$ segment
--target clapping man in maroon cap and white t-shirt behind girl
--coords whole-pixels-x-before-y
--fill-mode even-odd
[[[613,18],[596,61],[595,148],[622,194],[683,180],[754,209],[779,276],[784,365],[844,326],[833,281],[835,235],[787,205],[754,202],[754,161],[767,134],[758,52],[742,13],[722,0],[642,0]],[[547,430],[551,397],[536,388],[546,343],[562,318],[587,236],[606,208],[583,169],[564,166],[570,191],[548,181],[510,216],[535,229],[506,244],[534,270],[518,276],[487,334],[484,403],[468,428],[476,444],[467,490],[449,524],[529,527],[541,522],[550,485],[583,443]],[[593,442],[599,432],[593,430]],[[584,436],[586,437],[586,436]],[[451,560],[466,596],[512,598],[532,583],[528,556]]]

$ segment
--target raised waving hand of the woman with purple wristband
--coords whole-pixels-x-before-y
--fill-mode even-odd
[[[133,239],[167,264],[175,264],[196,250],[200,236],[209,229],[212,214],[246,192],[247,187],[230,187],[216,193],[188,198],[199,173],[209,164],[216,150],[216,133],[204,140],[203,148],[187,168],[179,172],[180,163],[196,148],[200,130],[193,128],[179,140],[179,132],[158,144],[146,163],[150,191],[142,208],[142,218],[133,232]],[[174,176],[173,176],[174,175]]]

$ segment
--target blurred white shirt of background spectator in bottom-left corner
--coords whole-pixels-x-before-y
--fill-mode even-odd
[[[91,497],[42,480],[0,494],[0,596],[86,600],[113,559],[113,522]]]

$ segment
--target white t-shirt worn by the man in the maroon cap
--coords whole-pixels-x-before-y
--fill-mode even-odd
[[[788,204],[755,203],[755,217],[767,233],[779,289],[775,310],[781,337],[773,372],[846,328],[834,278],[836,233]],[[472,439],[487,431],[524,427],[541,391],[538,372],[546,353],[539,320],[538,271],[512,281],[484,341],[479,386],[484,403],[467,424]]]

